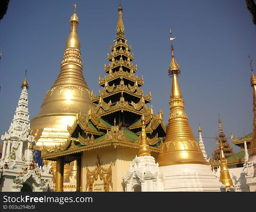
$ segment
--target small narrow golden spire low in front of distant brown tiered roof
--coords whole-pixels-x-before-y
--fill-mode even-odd
[[[225,154],[223,152],[223,145],[222,142],[220,141],[220,151],[221,151],[221,175],[220,175],[220,182],[225,185],[226,189],[229,190],[230,186],[234,186],[232,179],[229,174],[229,170],[227,168],[227,161],[225,158]]]

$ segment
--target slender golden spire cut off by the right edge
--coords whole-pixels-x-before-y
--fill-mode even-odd
[[[250,152],[250,157],[256,155],[256,78],[253,74],[253,68],[252,68],[252,60],[250,60],[250,55],[249,61],[250,61],[250,67],[252,71],[252,77],[251,77],[251,87],[253,87],[253,137],[251,140],[251,152]]]

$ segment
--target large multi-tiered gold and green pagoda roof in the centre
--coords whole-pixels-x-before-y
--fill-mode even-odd
[[[90,93],[96,107],[90,107],[88,114],[80,111],[74,124],[67,127],[70,133],[67,142],[52,149],[43,149],[43,154],[51,157],[108,145],[139,148],[142,115],[150,151],[159,152],[158,146],[166,135],[163,112],[161,109],[155,115],[152,105],[146,105],[151,103],[151,93],[149,91],[144,96],[141,89],[143,76],[138,79],[135,75],[137,64],[132,63],[134,55],[124,36],[122,10],[120,5],[117,36],[114,46],[110,45],[111,54],[108,53],[109,65],[104,65],[104,78],[99,76],[99,96],[93,91]]]

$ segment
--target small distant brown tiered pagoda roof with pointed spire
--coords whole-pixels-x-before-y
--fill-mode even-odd
[[[219,143],[222,142],[223,145],[223,152],[225,155],[225,158],[230,157],[232,155],[234,155],[234,151],[232,149],[232,147],[230,147],[229,142],[227,141],[226,135],[223,132],[222,126],[221,126],[221,118],[219,117],[219,134],[218,134],[218,138],[216,136],[216,141],[218,141]],[[219,144],[217,143],[217,147],[214,149],[214,154],[212,155],[214,160],[219,160],[221,156],[221,151],[219,148]]]

